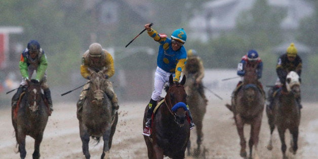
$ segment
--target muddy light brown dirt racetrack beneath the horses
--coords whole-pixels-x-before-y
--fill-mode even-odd
[[[206,158],[242,158],[240,141],[234,125],[232,113],[224,106],[229,99],[219,100],[208,95],[210,101],[204,118],[203,147]],[[120,103],[120,115],[110,149],[111,158],[147,158],[147,149],[142,135],[142,115],[147,101]],[[318,104],[303,102],[299,133],[299,148],[296,155],[287,152],[290,158],[318,158]],[[16,139],[11,123],[9,106],[0,109],[0,158],[19,158],[15,153]],[[245,127],[246,139],[249,139],[249,127]],[[260,158],[282,158],[281,142],[277,130],[274,131],[273,149],[266,149],[269,140],[269,128],[266,114],[260,133],[258,151]],[[195,129],[191,130],[192,148],[195,144]],[[288,148],[290,138],[286,136]],[[27,137],[26,158],[32,158],[34,140]],[[100,158],[102,144],[90,141],[91,158]],[[75,101],[72,103],[54,103],[54,112],[49,117],[44,139],[41,144],[41,158],[85,158],[82,142],[79,138]],[[186,158],[192,158],[186,156]],[[200,157],[203,158],[203,157]]]

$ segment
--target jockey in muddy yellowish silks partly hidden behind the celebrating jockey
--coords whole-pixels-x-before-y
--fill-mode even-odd
[[[191,61],[191,66],[188,65],[189,61]],[[204,93],[204,86],[202,84],[202,78],[204,77],[203,61],[200,57],[198,57],[196,51],[193,49],[187,51],[187,63],[185,64],[184,74],[187,75],[189,73],[195,74],[195,85],[198,86],[198,92],[207,103],[208,100]]]

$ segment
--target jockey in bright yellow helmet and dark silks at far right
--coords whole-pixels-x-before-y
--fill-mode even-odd
[[[275,86],[269,90],[269,96],[268,96],[268,103],[267,107],[272,109],[272,101],[273,96],[272,93],[281,88],[282,86],[285,86],[286,84],[286,76],[288,72],[290,71],[295,71],[299,77],[301,74],[301,69],[302,69],[302,60],[301,58],[297,55],[297,49],[295,47],[294,43],[291,43],[290,46],[287,48],[286,53],[281,55],[280,58],[277,61],[276,64],[276,73],[277,73],[277,81],[275,83]],[[302,105],[300,104],[301,99],[300,97],[297,98],[297,102],[299,104],[299,108],[302,108]]]

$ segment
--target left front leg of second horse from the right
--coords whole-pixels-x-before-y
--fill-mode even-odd
[[[239,114],[236,114],[234,118],[235,118],[237,133],[239,133],[239,136],[240,136],[240,145],[241,145],[240,155],[242,157],[246,157],[246,141],[244,137],[244,123]]]

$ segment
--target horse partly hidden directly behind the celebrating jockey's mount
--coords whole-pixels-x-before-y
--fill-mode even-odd
[[[207,110],[207,103],[204,98],[198,92],[200,88],[195,84],[195,74],[187,73],[186,83],[184,85],[187,93],[187,104],[191,107],[191,113],[193,117],[193,123],[196,128],[196,149],[194,149],[193,156],[199,156],[201,153],[201,144],[203,140],[203,117]],[[191,141],[189,140],[187,146],[187,155],[190,155]]]

